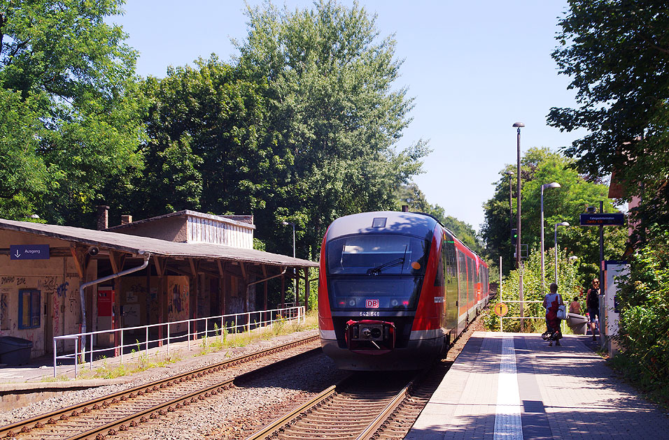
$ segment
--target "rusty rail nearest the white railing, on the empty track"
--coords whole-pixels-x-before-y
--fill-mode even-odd
[[[5,425],[0,427],[0,439],[3,438],[13,438],[17,434],[23,432],[30,432],[34,428],[41,428],[45,425],[54,425],[57,423],[57,420],[66,420],[69,416],[78,416],[79,413],[87,413],[91,409],[100,409],[107,407],[111,404],[116,404],[119,401],[125,401],[127,399],[132,399],[137,395],[143,395],[148,392],[150,393],[153,390],[158,390],[159,388],[165,388],[166,386],[171,386],[172,382],[175,381],[184,381],[189,379],[195,379],[196,377],[201,377],[204,374],[209,372],[220,371],[226,367],[234,367],[235,365],[242,364],[244,362],[249,362],[257,358],[262,358],[265,355],[271,353],[281,352],[288,349],[291,349],[295,346],[300,346],[302,344],[308,344],[309,342],[314,342],[318,339],[318,336],[306,337],[298,339],[297,341],[288,342],[286,344],[281,344],[269,349],[264,349],[261,351],[256,351],[249,353],[248,355],[237,356],[236,358],[228,359],[223,362],[218,362],[213,365],[207,365],[206,367],[200,367],[194,369],[190,372],[183,372],[176,374],[175,376],[170,376],[164,379],[146,383],[141,386],[136,386],[134,388],[129,388],[127,390],[118,391],[117,393],[112,393],[110,395],[105,395],[98,397],[97,399],[88,400],[87,402],[82,402],[80,404],[75,404],[68,406],[63,409],[57,409],[55,411],[50,411],[49,413],[44,413],[39,416],[34,416],[24,420],[19,420],[10,425]],[[190,376],[190,377],[189,377]],[[235,378],[237,379],[237,378]],[[220,384],[218,385],[220,386]]]

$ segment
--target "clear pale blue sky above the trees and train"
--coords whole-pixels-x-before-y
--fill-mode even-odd
[[[551,107],[576,105],[568,78],[551,59],[565,0],[359,3],[378,15],[381,36],[395,34],[397,58],[404,59],[397,87],[409,87],[416,99],[414,121],[398,147],[430,141],[425,173],[414,181],[447,215],[480,229],[498,173],[516,163],[514,122],[526,124],[523,151],[557,150],[583,135],[546,125]],[[312,2],[285,4],[295,9]],[[242,0],[127,0],[125,10],[111,21],[122,24],[127,43],[139,51],[139,75],[162,78],[168,66],[211,53],[230,61],[230,38],[244,40],[248,31]]]

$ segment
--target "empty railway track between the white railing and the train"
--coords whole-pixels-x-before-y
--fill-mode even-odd
[[[0,439],[113,438],[148,420],[198,404],[233,386],[242,376],[277,367],[288,359],[320,351],[318,337],[239,356],[112,395],[0,427]]]

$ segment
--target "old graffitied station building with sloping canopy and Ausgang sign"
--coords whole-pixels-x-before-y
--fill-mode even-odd
[[[37,357],[52,352],[52,337],[83,328],[266,310],[270,279],[281,280],[281,298],[286,279],[304,282],[305,298],[297,302],[305,303],[309,268],[318,263],[253,249],[254,230],[253,216],[188,210],[135,222],[123,216],[109,227],[106,206],[99,207],[98,230],[0,219],[0,336],[30,340]],[[80,295],[85,283],[138,268]],[[170,333],[185,330],[174,325]],[[113,340],[99,337],[94,345]],[[59,351],[72,348],[72,341],[59,342]]]

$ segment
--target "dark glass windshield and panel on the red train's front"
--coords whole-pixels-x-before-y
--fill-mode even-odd
[[[328,243],[333,309],[415,309],[429,242],[407,235],[354,235]]]

